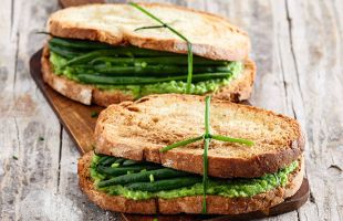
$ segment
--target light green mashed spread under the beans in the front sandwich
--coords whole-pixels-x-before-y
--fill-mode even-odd
[[[189,187],[183,187],[172,190],[163,190],[156,192],[148,191],[138,191],[131,190],[122,185],[114,185],[104,188],[97,188],[97,183],[108,177],[104,176],[96,169],[96,165],[101,159],[100,156],[94,155],[91,164],[91,177],[94,181],[96,189],[104,191],[113,196],[123,196],[128,199],[134,200],[144,200],[150,198],[162,198],[162,199],[172,199],[179,197],[189,197],[189,196],[201,196],[202,194],[202,183],[198,182]],[[280,186],[285,186],[288,182],[288,176],[298,168],[298,161],[292,162],[290,166],[280,169],[276,173],[267,173],[260,178],[252,179],[218,179],[209,178],[207,194],[212,196],[222,196],[228,198],[238,198],[238,197],[252,197],[271,189],[274,189]],[[200,176],[199,176],[200,177]]]

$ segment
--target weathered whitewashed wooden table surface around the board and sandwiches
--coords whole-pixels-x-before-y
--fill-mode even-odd
[[[295,117],[306,138],[310,200],[268,220],[343,220],[342,0],[172,0],[249,32],[253,105]],[[77,187],[79,152],[29,74],[56,1],[0,6],[0,220],[117,220]]]

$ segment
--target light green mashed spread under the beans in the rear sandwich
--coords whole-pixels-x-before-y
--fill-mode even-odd
[[[67,60],[54,52],[50,52],[50,62],[53,66],[53,71],[58,75],[63,75],[72,81],[81,82],[77,78],[77,74],[83,72],[84,74],[92,74],[91,70],[84,69],[84,66],[65,66]],[[230,73],[225,78],[211,78],[191,84],[190,93],[196,95],[202,95],[210,92],[216,92],[220,87],[230,84],[243,70],[241,62],[230,62]],[[82,82],[81,82],[82,83]],[[165,94],[165,93],[185,93],[186,82],[183,81],[170,81],[154,84],[142,84],[142,85],[111,85],[111,84],[95,84],[94,86],[106,91],[119,90],[123,93],[131,94],[135,98],[148,94]]]

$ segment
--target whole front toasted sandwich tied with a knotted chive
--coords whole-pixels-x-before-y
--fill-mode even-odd
[[[110,105],[94,138],[94,151],[79,160],[80,187],[117,212],[266,211],[293,196],[304,175],[297,120],[204,96],[149,95]]]

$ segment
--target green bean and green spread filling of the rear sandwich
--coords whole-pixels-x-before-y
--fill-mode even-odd
[[[148,94],[185,93],[187,55],[53,38],[49,42],[54,74],[138,98]],[[212,93],[243,72],[242,62],[194,56],[191,94]]]

